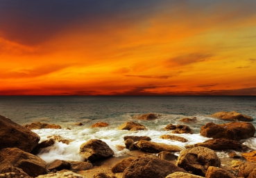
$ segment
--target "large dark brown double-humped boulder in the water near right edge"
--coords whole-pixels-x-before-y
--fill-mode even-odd
[[[200,128],[200,135],[213,139],[248,139],[255,134],[255,127],[248,122],[207,123]]]

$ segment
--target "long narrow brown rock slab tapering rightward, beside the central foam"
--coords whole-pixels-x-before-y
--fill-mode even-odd
[[[160,143],[155,143],[153,141],[146,141],[146,140],[138,141],[135,144],[135,146],[137,148],[139,148],[139,150],[143,150],[143,151],[146,151],[146,152],[161,152],[161,151],[179,152],[179,151],[182,150],[178,146],[160,144]]]

